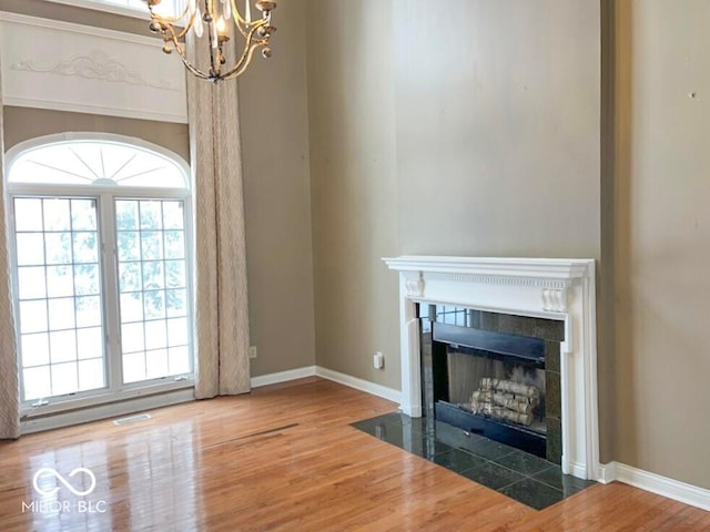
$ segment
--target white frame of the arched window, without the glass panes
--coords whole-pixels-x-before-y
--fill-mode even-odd
[[[135,146],[138,149],[148,150],[154,153],[158,153],[164,157],[170,158],[173,163],[175,163],[183,172],[183,176],[185,180],[185,186],[183,190],[176,188],[160,188],[160,187],[136,187],[136,186],[105,186],[105,185],[44,185],[44,184],[34,184],[34,183],[12,183],[9,181],[9,176],[12,173],[12,164],[14,161],[24,152],[45,145],[52,144],[57,142],[67,142],[67,141],[95,141],[95,142],[110,142],[110,143],[120,143],[129,146]],[[192,202],[193,202],[193,187],[192,187],[192,178],[191,171],[187,163],[176,155],[175,153],[152,144],[150,142],[143,141],[141,139],[124,136],[124,135],[115,135],[110,133],[60,133],[53,135],[41,136],[37,139],[32,139],[29,141],[24,141],[20,144],[8,150],[6,153],[6,208],[9,213],[9,235],[12,235],[9,242],[10,246],[10,268],[11,268],[11,278],[12,278],[12,298],[13,305],[17,309],[18,295],[17,287],[18,285],[18,265],[17,265],[17,248],[16,248],[16,238],[14,238],[14,208],[12,202],[14,197],[22,196],[44,196],[44,197],[87,197],[87,198],[95,198],[97,200],[97,224],[98,224],[98,233],[100,235],[100,242],[102,244],[106,242],[115,243],[115,218],[110,216],[109,214],[113,212],[115,215],[115,211],[108,211],[105,208],[101,208],[104,202],[109,202],[115,205],[116,200],[182,200],[184,205],[184,218],[185,218],[185,250],[186,250],[186,260],[185,260],[185,276],[186,276],[186,294],[187,294],[187,305],[189,305],[189,316],[187,320],[190,324],[189,330],[189,345],[191,347],[191,366],[193,374],[187,377],[164,377],[158,379],[142,380],[138,382],[131,383],[122,383],[115,379],[113,382],[111,381],[112,375],[121,375],[121,350],[120,346],[120,316],[119,316],[119,305],[116,298],[119,297],[118,291],[118,279],[114,277],[113,286],[106,286],[106,278],[103,275],[104,269],[112,268],[115,269],[118,263],[115,263],[115,250],[108,252],[105,249],[100,249],[100,265],[101,265],[101,290],[103,296],[103,325],[104,325],[104,334],[110,335],[110,324],[114,324],[119,326],[119,330],[113,331],[113,335],[108,339],[106,347],[110,347],[111,352],[115,352],[116,355],[105,355],[105,371],[106,371],[106,387],[98,390],[88,390],[88,391],[78,391],[72,395],[64,396],[52,396],[49,398],[49,402],[45,405],[32,405],[34,400],[22,401],[20,407],[20,416],[22,419],[29,419],[32,417],[45,417],[51,415],[58,415],[62,412],[68,412],[71,410],[78,410],[82,408],[97,407],[106,403],[114,403],[119,401],[131,400],[135,398],[141,398],[155,393],[166,393],[171,391],[181,391],[181,390],[191,390],[194,388],[194,369],[196,367],[195,362],[195,335],[194,335],[194,218],[192,211]],[[112,235],[112,236],[108,236]],[[106,238],[108,236],[108,238]],[[19,335],[19,330],[17,332]],[[19,336],[18,336],[19,338]],[[116,372],[118,371],[118,372]],[[22,386],[22,379],[20,379]],[[23,397],[23,392],[21,391],[21,398]],[[179,401],[183,401],[180,399]],[[176,401],[178,402],[178,401]],[[54,427],[54,424],[51,424]]]

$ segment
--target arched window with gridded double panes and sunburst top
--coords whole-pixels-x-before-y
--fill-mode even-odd
[[[14,146],[7,163],[24,403],[192,379],[185,162],[136,139],[65,133]]]

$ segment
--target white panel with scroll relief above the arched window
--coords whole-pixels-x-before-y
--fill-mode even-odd
[[[161,41],[0,12],[6,105],[187,122],[185,69]]]

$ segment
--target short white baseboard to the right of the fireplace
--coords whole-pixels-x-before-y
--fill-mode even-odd
[[[606,484],[615,480],[691,507],[710,510],[710,490],[619,462],[610,462],[599,467],[599,482]]]

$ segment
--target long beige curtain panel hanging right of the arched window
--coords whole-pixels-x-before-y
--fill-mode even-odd
[[[213,84],[187,74],[187,98],[195,197],[195,397],[204,399],[250,391],[242,153],[236,83]]]

